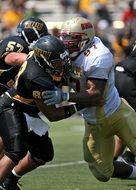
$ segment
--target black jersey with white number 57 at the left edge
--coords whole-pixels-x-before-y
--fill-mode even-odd
[[[0,42],[0,94],[14,83],[14,78],[19,71],[19,66],[7,65],[4,61],[11,52],[28,53],[29,48],[19,36],[10,36]]]

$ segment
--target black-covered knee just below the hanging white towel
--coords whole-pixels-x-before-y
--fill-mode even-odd
[[[39,165],[51,161],[54,157],[53,144],[48,132],[42,136],[35,134],[33,131],[29,132],[28,149],[32,160]]]

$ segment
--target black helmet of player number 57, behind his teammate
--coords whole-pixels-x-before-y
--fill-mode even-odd
[[[28,45],[40,37],[48,35],[46,24],[41,19],[34,17],[22,20],[18,24],[16,32]]]

